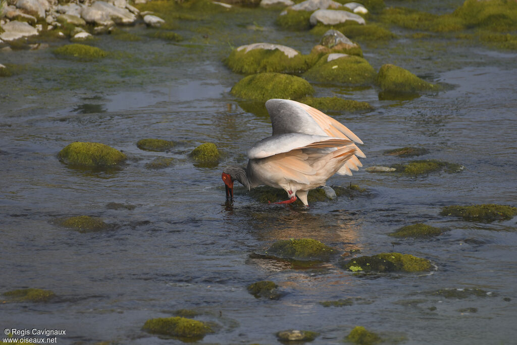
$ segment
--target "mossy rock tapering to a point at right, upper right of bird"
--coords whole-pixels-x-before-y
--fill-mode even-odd
[[[437,85],[418,78],[407,69],[391,64],[379,69],[376,82],[382,91],[391,93],[418,93],[438,89]]]

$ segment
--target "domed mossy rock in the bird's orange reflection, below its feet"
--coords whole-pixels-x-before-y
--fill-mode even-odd
[[[291,238],[273,243],[266,253],[283,259],[328,261],[338,254],[338,250],[316,239]]]

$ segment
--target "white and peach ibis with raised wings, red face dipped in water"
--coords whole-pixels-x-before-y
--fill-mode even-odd
[[[309,190],[325,186],[334,174],[352,175],[366,157],[355,143],[362,141],[348,128],[321,111],[297,101],[270,99],[266,109],[273,133],[248,150],[246,168],[223,170],[226,200],[233,201],[235,180],[250,190],[267,185],[287,192],[288,200],[308,206]]]

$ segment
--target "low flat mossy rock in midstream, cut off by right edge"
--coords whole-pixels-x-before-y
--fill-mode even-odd
[[[441,216],[461,217],[468,221],[490,222],[508,220],[517,215],[517,207],[496,204],[460,206],[452,205],[442,208]]]

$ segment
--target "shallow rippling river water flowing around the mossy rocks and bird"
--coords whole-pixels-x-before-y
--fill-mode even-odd
[[[0,84],[0,291],[34,287],[58,295],[48,304],[2,304],[4,328],[66,329],[66,336],[58,336],[62,344],[181,343],[141,327],[147,319],[194,309],[202,313],[198,319],[219,325],[201,343],[277,343],[275,332],[290,328],[320,333],[314,344],[342,343],[356,325],[409,344],[514,343],[515,219],[472,223],[438,213],[449,204],[515,206],[517,54],[453,39],[401,36],[386,45],[365,43],[364,55],[375,69],[394,63],[446,87],[409,101],[386,101],[373,88],[315,85],[316,96],[340,95],[375,107],[333,114],[363,140],[364,166],[409,160],[383,151],[421,145],[430,153],[417,159],[457,162],[465,169],[418,178],[364,170],[334,176],[329,185],[352,182],[371,195],[308,209],[264,205],[246,195],[228,206],[222,167],[244,164],[246,149],[269,136],[270,124],[242,110],[229,94],[242,76],[221,59],[231,47],[258,41],[308,53],[319,39],[279,31],[277,13],[242,9],[186,22],[178,32],[194,47],[101,36],[94,44],[117,52],[102,62],[59,60],[49,49],[0,52],[0,62],[28,66]],[[264,31],[246,28],[252,24]],[[189,25],[201,29],[190,31]],[[127,30],[145,32],[142,26]],[[143,138],[181,144],[170,153],[145,152],[136,147]],[[67,168],[56,155],[73,141],[121,149],[128,164],[115,172]],[[219,167],[198,168],[187,159],[206,141],[222,149]],[[177,161],[162,170],[145,168],[163,156]],[[112,202],[135,207],[113,209]],[[55,224],[74,215],[102,217],[113,229],[79,233]],[[424,240],[387,236],[416,222],[450,231]],[[337,261],[289,269],[254,255],[278,239],[300,237],[344,253],[411,253],[437,268],[424,275],[358,276]],[[286,295],[264,301],[246,291],[263,279],[277,282]],[[428,294],[467,288],[490,294]],[[318,303],[347,297],[362,299],[345,307]],[[465,308],[477,312],[460,311]]]

